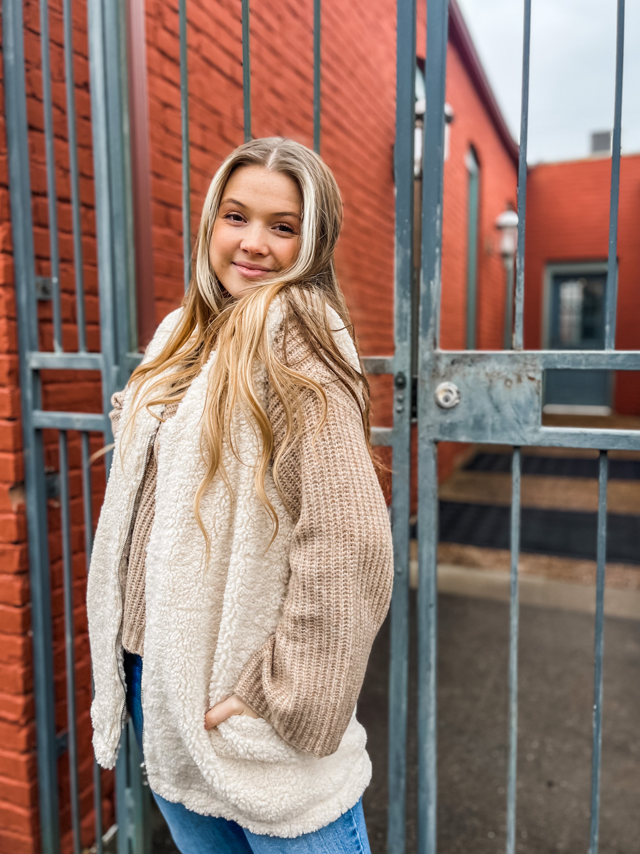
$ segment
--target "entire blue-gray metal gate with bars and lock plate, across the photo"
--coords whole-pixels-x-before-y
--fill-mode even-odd
[[[320,0],[314,0],[314,147],[320,149]],[[136,324],[131,311],[133,283],[131,181],[128,148],[126,62],[122,3],[88,0],[91,122],[95,170],[96,234],[100,296],[100,352],[88,352],[84,336],[82,229],[73,98],[72,3],[63,0],[67,68],[67,125],[73,206],[77,352],[63,352],[55,161],[49,74],[48,4],[41,0],[44,133],[47,155],[51,275],[35,275],[32,237],[32,192],[26,120],[25,58],[21,0],[3,0],[3,51],[9,176],[14,235],[15,277],[20,331],[20,384],[25,444],[27,516],[32,582],[33,666],[37,692],[38,776],[42,850],[60,851],[57,803],[57,757],[69,757],[74,851],[80,851],[79,779],[73,698],[73,574],[68,485],[68,432],[79,431],[82,449],[84,537],[91,547],[91,484],[89,437],[94,431],[106,441],[106,413],[112,392],[125,385],[137,363]],[[640,436],[624,430],[552,429],[541,424],[545,370],[638,370],[640,354],[614,349],[616,313],[616,236],[620,176],[620,114],[624,42],[624,0],[618,0],[618,37],[614,97],[614,142],[611,178],[605,349],[596,351],[525,351],[523,349],[524,247],[527,191],[527,107],[531,0],[525,0],[520,168],[518,174],[518,246],[515,278],[513,349],[499,352],[443,351],[439,348],[440,254],[445,138],[445,65],[447,0],[428,0],[426,85],[423,134],[422,272],[419,324],[412,342],[414,212],[414,126],[416,0],[398,0],[397,116],[394,167],[395,223],[395,352],[369,357],[371,374],[393,376],[393,427],[375,428],[374,442],[393,449],[393,551],[395,578],[391,608],[389,683],[389,804],[387,849],[404,851],[406,799],[406,736],[409,652],[410,430],[412,386],[416,377],[418,424],[418,851],[436,851],[436,623],[438,492],[437,444],[482,442],[508,444],[513,453],[511,506],[511,600],[509,640],[509,766],[507,784],[507,854],[515,851],[515,783],[517,735],[518,553],[520,536],[520,448],[526,445],[591,447],[600,451],[600,492],[597,539],[596,650],[594,672],[591,847],[598,845],[600,745],[602,732],[602,630],[606,557],[608,450],[640,449]],[[190,278],[189,123],[186,0],[179,0],[179,41],[183,133],[184,282]],[[249,0],[241,0],[245,138],[251,138]],[[117,61],[114,61],[117,58]],[[71,93],[71,95],[69,95]],[[419,224],[415,224],[418,227]],[[38,293],[50,289],[54,346],[38,347]],[[39,290],[38,290],[39,289]],[[415,313],[415,312],[414,312]],[[416,370],[412,369],[413,363]],[[416,358],[417,356],[417,358]],[[102,377],[102,413],[44,411],[40,371],[94,370]],[[51,605],[48,555],[47,478],[43,430],[59,434],[62,556],[65,582],[67,734],[55,731],[54,663],[51,650]],[[74,434],[75,435],[75,434]],[[130,733],[116,770],[119,854],[148,850],[148,788],[139,773],[140,758]],[[96,849],[102,851],[100,775],[94,774]]]

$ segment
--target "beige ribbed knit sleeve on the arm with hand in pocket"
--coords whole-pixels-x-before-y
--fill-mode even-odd
[[[236,693],[289,744],[323,757],[352,717],[391,598],[393,549],[356,402],[295,336],[287,357],[322,383],[329,412],[314,444],[321,407],[305,392],[304,430],[279,476],[296,522],[288,594],[276,633],[249,659]],[[279,447],[286,421],[273,393],[269,416]]]

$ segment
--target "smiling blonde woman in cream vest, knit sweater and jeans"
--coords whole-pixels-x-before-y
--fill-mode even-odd
[[[113,396],[87,605],[97,761],[127,712],[183,854],[369,852],[355,717],[393,579],[369,388],[311,150],[241,145],[183,306]]]

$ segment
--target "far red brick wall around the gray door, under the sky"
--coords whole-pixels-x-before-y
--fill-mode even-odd
[[[551,262],[607,260],[611,161],[533,167],[527,186],[525,346],[542,346],[543,278]],[[620,164],[618,315],[615,346],[640,348],[640,155]],[[640,414],[640,373],[618,371],[614,407]]]

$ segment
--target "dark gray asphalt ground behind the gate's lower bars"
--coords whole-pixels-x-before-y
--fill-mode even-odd
[[[416,649],[415,594],[411,649]],[[439,596],[438,852],[505,845],[509,609]],[[416,658],[410,656],[407,845],[416,851]],[[364,794],[372,854],[387,839],[388,622],[358,702],[373,779]],[[593,617],[523,605],[516,850],[589,848]],[[154,854],[176,851],[160,816]],[[605,621],[600,854],[640,852],[640,622]]]

